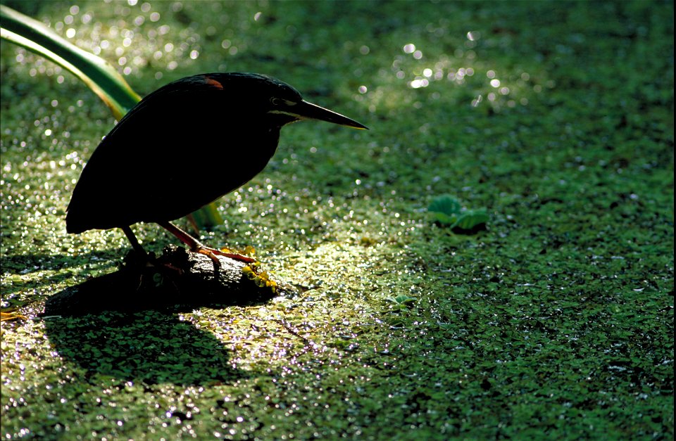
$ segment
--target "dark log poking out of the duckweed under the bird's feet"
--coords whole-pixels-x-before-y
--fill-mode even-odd
[[[280,288],[256,264],[206,255],[168,245],[149,264],[133,252],[118,271],[65,288],[45,302],[43,316],[78,316],[105,310],[192,310],[202,306],[248,305],[292,288]]]

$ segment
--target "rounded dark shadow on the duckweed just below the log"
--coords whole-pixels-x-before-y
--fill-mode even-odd
[[[106,312],[45,319],[46,335],[63,359],[86,376],[123,383],[208,385],[246,376],[232,368],[223,344],[175,315]]]

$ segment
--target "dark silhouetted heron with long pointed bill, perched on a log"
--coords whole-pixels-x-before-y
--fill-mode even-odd
[[[299,120],[366,129],[267,75],[209,73],[167,84],[134,106],[92,153],[66,229],[119,227],[145,255],[130,225],[154,222],[217,266],[215,254],[250,261],[208,248],[170,221],[246,184],[272,158],[280,129]]]

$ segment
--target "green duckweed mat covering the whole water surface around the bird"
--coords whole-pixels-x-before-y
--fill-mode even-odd
[[[2,42],[3,439],[674,438],[672,1],[4,4],[139,94],[261,72],[370,130],[284,128],[202,232],[293,293],[44,317],[130,248],[65,232],[114,120]]]

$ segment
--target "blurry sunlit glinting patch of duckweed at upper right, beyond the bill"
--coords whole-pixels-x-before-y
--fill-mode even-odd
[[[489,106],[492,110],[501,110],[527,106],[534,94],[542,92],[544,87],[553,87],[551,82],[534,80],[529,72],[518,68],[499,69],[490,59],[484,58],[484,46],[496,44],[495,37],[489,32],[470,30],[464,36],[451,37],[446,35],[448,30],[443,27],[431,26],[430,29],[434,29],[433,32],[442,29],[442,37],[432,39],[432,42],[420,38],[420,41],[403,43],[399,46],[400,52],[394,54],[389,70],[380,68],[381,81],[359,86],[353,99],[365,103],[371,113],[401,109],[403,103],[415,99],[406,98],[405,90],[399,87],[401,84],[420,94],[429,89],[427,98],[430,101],[459,98],[459,104],[464,103],[470,108]],[[449,49],[443,50],[444,46]],[[367,46],[360,53],[366,59],[371,51]],[[358,77],[359,72],[355,75]],[[468,89],[473,98],[468,98],[463,89]],[[420,108],[422,103],[413,101],[413,104]]]

